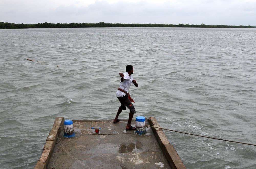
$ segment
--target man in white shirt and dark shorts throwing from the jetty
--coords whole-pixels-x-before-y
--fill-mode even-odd
[[[119,107],[119,109],[117,111],[117,114],[116,114],[116,117],[115,117],[113,123],[119,122],[118,116],[120,115],[122,110],[126,110],[126,107],[129,108],[129,110],[130,110],[129,119],[128,119],[128,123],[127,123],[125,130],[135,130],[136,129],[135,127],[131,126],[133,114],[136,113],[136,111],[132,104],[132,102],[134,102],[134,101],[132,100],[132,98],[130,97],[130,94],[128,93],[132,83],[134,84],[134,86],[138,87],[138,83],[131,76],[132,74],[133,74],[133,66],[127,65],[126,72],[119,73],[119,75],[121,77],[121,81],[120,81],[120,86],[119,86],[118,90],[116,91],[116,97],[120,101],[121,106]]]

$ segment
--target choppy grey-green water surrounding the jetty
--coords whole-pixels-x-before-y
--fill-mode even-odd
[[[127,64],[134,65],[139,85],[129,92],[136,116],[154,116],[163,128],[255,144],[255,31],[0,30],[1,168],[33,168],[56,117],[114,119],[118,73]],[[256,168],[254,146],[165,134],[187,168]]]

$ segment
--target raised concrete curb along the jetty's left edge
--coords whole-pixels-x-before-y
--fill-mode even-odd
[[[47,165],[49,163],[49,160],[51,158],[52,152],[54,150],[57,138],[60,134],[61,126],[63,126],[64,118],[63,117],[57,117],[54,121],[54,124],[52,126],[52,129],[46,139],[45,146],[43,148],[43,152],[41,154],[41,157],[37,161],[34,169],[46,169]]]

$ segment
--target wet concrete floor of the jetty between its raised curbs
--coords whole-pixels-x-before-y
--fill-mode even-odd
[[[125,120],[73,123],[76,136],[63,137],[61,130],[48,169],[170,168],[151,128],[146,128],[146,135],[137,135],[125,130]],[[103,129],[97,134],[87,129],[91,127]]]

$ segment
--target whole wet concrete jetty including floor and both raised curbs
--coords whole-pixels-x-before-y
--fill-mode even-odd
[[[161,129],[149,127],[146,135],[137,135],[125,130],[127,120],[73,120],[76,136],[66,138],[63,121],[56,118],[35,169],[186,168]],[[153,117],[147,124],[159,127]],[[103,129],[97,134],[92,127]]]

